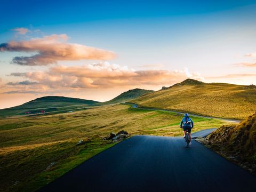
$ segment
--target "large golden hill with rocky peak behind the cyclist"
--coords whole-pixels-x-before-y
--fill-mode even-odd
[[[256,86],[203,83],[187,79],[165,90],[142,95],[130,102],[143,107],[243,119],[256,110]]]

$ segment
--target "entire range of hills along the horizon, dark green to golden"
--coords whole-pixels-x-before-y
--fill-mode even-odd
[[[256,108],[255,85],[233,85],[227,83],[204,83],[186,79],[159,91],[133,89],[106,102],[47,96],[23,105],[0,110],[0,116],[23,115],[26,112],[64,113],[82,110],[95,105],[133,102],[143,107],[163,108],[181,112],[228,119],[243,119]]]

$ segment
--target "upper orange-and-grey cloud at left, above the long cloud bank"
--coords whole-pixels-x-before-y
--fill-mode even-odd
[[[66,34],[32,38],[28,41],[10,41],[0,44],[0,51],[36,52],[30,57],[14,57],[12,62],[23,66],[45,66],[63,60],[110,60],[115,54],[81,44],[67,43]]]

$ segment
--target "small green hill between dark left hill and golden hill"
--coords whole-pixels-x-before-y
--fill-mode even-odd
[[[113,104],[113,103],[122,103],[127,102],[131,99],[135,99],[140,97],[143,94],[154,92],[153,90],[144,90],[144,89],[133,89],[126,92],[123,92],[122,94],[118,95],[114,99],[111,99],[107,102],[102,102],[102,104]]]

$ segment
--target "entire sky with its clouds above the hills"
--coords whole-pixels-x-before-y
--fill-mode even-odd
[[[187,78],[256,84],[256,1],[0,0],[0,108]]]

